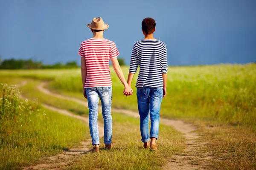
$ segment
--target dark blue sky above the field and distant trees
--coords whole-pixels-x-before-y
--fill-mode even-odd
[[[86,25],[99,16],[126,64],[145,17],[156,20],[169,65],[256,61],[256,0],[0,0],[0,55],[80,63]]]

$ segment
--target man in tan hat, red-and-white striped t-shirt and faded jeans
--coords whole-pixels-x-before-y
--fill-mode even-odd
[[[112,81],[109,69],[109,60],[113,68],[125,86],[124,93],[131,95],[131,87],[125,80],[122,69],[118,63],[119,51],[113,41],[103,37],[103,32],[108,29],[101,17],[93,18],[91,24],[87,24],[93,33],[90,38],[81,43],[79,55],[81,56],[81,76],[83,82],[83,94],[88,99],[89,127],[92,137],[93,152],[99,152],[98,130],[98,104],[102,102],[102,116],[104,119],[104,143],[107,149],[111,149],[112,141]]]

